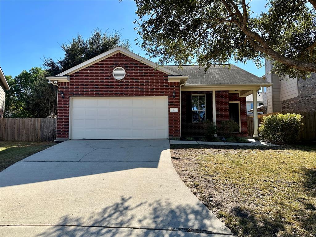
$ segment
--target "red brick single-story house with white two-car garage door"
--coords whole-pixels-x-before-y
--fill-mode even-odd
[[[47,79],[58,84],[57,140],[203,136],[206,120],[221,134],[229,119],[247,136],[246,96],[271,85],[235,65],[157,68],[121,47]]]

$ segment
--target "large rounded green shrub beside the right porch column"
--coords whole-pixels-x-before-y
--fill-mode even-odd
[[[258,129],[259,136],[272,143],[294,143],[301,130],[300,114],[275,114],[264,116]]]

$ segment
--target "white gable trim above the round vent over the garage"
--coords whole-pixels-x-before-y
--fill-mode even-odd
[[[77,71],[81,70],[82,68],[88,67],[88,66],[90,66],[90,65],[92,65],[92,64],[94,64],[96,62],[99,62],[99,61],[101,61],[103,59],[111,57],[112,55],[114,55],[116,53],[123,53],[124,55],[126,55],[126,56],[128,56],[128,57],[130,57],[132,59],[135,59],[135,60],[137,60],[139,62],[142,62],[142,63],[144,63],[144,64],[146,64],[148,66],[151,66],[153,68],[157,68],[157,70],[159,70],[161,72],[164,72],[164,73],[166,73],[168,75],[181,76],[181,74],[179,74],[177,72],[173,72],[170,69],[167,69],[167,68],[165,68],[163,66],[158,67],[158,65],[156,63],[154,63],[154,62],[152,62],[152,61],[150,61],[148,59],[144,59],[143,57],[141,57],[141,56],[139,56],[139,55],[137,55],[135,53],[132,53],[131,51],[128,51],[128,50],[126,50],[126,49],[124,49],[122,47],[119,47],[119,46],[115,47],[113,49],[110,49],[110,50],[108,50],[108,51],[106,51],[104,53],[101,53],[100,55],[95,56],[94,58],[89,59],[89,60],[87,60],[87,61],[85,61],[85,62],[83,62],[81,64],[78,64],[78,65],[76,65],[76,66],[74,66],[74,67],[72,67],[72,68],[70,68],[70,69],[68,69],[68,70],[66,70],[64,72],[61,72],[61,73],[59,73],[56,76],[70,75],[70,74],[72,74],[74,72],[77,72]]]

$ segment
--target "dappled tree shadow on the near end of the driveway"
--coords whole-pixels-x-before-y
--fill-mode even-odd
[[[135,212],[136,209],[143,212]],[[187,232],[211,234],[208,229],[215,227],[209,224],[212,218],[215,217],[210,216],[209,210],[202,203],[194,206],[174,206],[168,200],[157,200],[135,204],[132,203],[132,197],[122,196],[119,202],[89,216],[63,216],[56,226],[49,227],[37,236],[176,237],[184,236]],[[224,229],[221,230],[221,233],[227,234]]]

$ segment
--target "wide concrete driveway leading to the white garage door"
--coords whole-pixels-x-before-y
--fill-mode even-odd
[[[181,181],[168,140],[69,140],[0,175],[2,237],[231,234]]]

